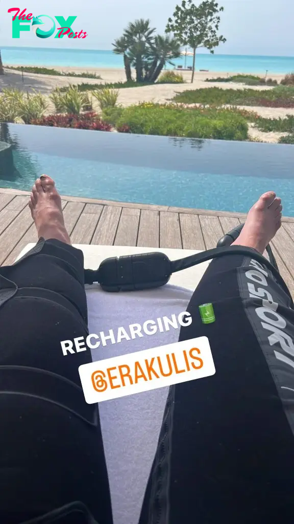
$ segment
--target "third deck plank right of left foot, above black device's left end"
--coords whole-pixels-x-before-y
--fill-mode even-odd
[[[108,205],[104,206],[91,244],[112,246],[115,241],[120,215],[121,208]]]

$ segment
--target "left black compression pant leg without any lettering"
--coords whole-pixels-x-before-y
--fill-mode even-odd
[[[111,524],[98,409],[86,404],[78,375],[91,352],[64,356],[60,344],[88,335],[83,253],[41,239],[0,275],[0,522],[80,501]],[[9,300],[5,279],[18,286]],[[56,522],[90,522],[81,507]]]

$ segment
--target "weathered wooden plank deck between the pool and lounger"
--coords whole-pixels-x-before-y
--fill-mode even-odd
[[[12,264],[28,243],[37,241],[28,199],[26,191],[0,188],[0,265]],[[74,244],[210,249],[246,216],[73,196],[63,196],[62,205]],[[294,296],[294,218],[282,219],[272,248]]]

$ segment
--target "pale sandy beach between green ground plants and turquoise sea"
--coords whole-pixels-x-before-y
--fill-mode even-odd
[[[9,64],[7,64],[9,65]],[[86,78],[73,78],[73,77],[56,77],[50,76],[48,74],[33,74],[33,73],[24,73],[24,81],[22,81],[22,74],[20,71],[13,71],[5,69],[4,77],[0,77],[0,87],[14,87],[20,90],[32,92],[33,90],[39,91],[45,95],[49,95],[56,87],[62,87],[64,85],[75,85],[83,82],[88,82],[91,84],[100,84],[108,82],[124,82],[126,80],[125,70],[124,69],[111,69],[111,68],[75,68],[75,67],[52,67],[58,71],[62,72],[89,72],[96,73],[100,75],[101,80],[97,79],[86,79]],[[134,73],[134,72],[133,72]],[[217,82],[205,82],[207,78],[213,79],[218,77],[228,77],[233,74],[242,74],[240,71],[232,72],[218,72],[218,71],[196,71],[193,84],[190,83],[191,72],[182,71],[184,84],[154,84],[146,85],[140,88],[123,88],[119,90],[119,99],[118,102],[120,105],[127,107],[131,104],[138,104],[140,102],[155,102],[155,103],[166,103],[169,100],[172,100],[176,93],[186,91],[189,89],[199,89],[199,88],[211,88],[216,86],[221,89],[246,89],[247,86],[244,84],[237,84],[234,82],[228,83],[217,83]],[[249,73],[248,73],[249,74]],[[256,74],[256,73],[251,73]],[[262,76],[262,74],[261,74]],[[135,75],[133,75],[135,77]],[[280,82],[284,78],[283,74],[272,74],[270,78]],[[252,86],[251,89],[254,90],[265,90],[272,89],[267,86]],[[52,106],[51,106],[52,105]],[[95,111],[99,112],[98,104],[93,100],[93,107]],[[240,106],[243,108],[243,106]],[[244,106],[246,110],[254,111],[259,115],[266,118],[285,118],[287,114],[294,115],[294,108],[279,108],[279,107],[248,107]],[[53,104],[49,104],[48,111],[53,112]],[[261,131],[255,129],[254,127],[250,128],[250,136],[257,140],[264,140],[267,142],[276,143],[281,135],[285,133],[262,133]]]

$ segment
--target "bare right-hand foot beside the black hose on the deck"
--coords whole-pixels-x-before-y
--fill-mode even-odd
[[[264,193],[252,206],[235,246],[253,247],[263,254],[281,227],[281,199],[273,191]]]

